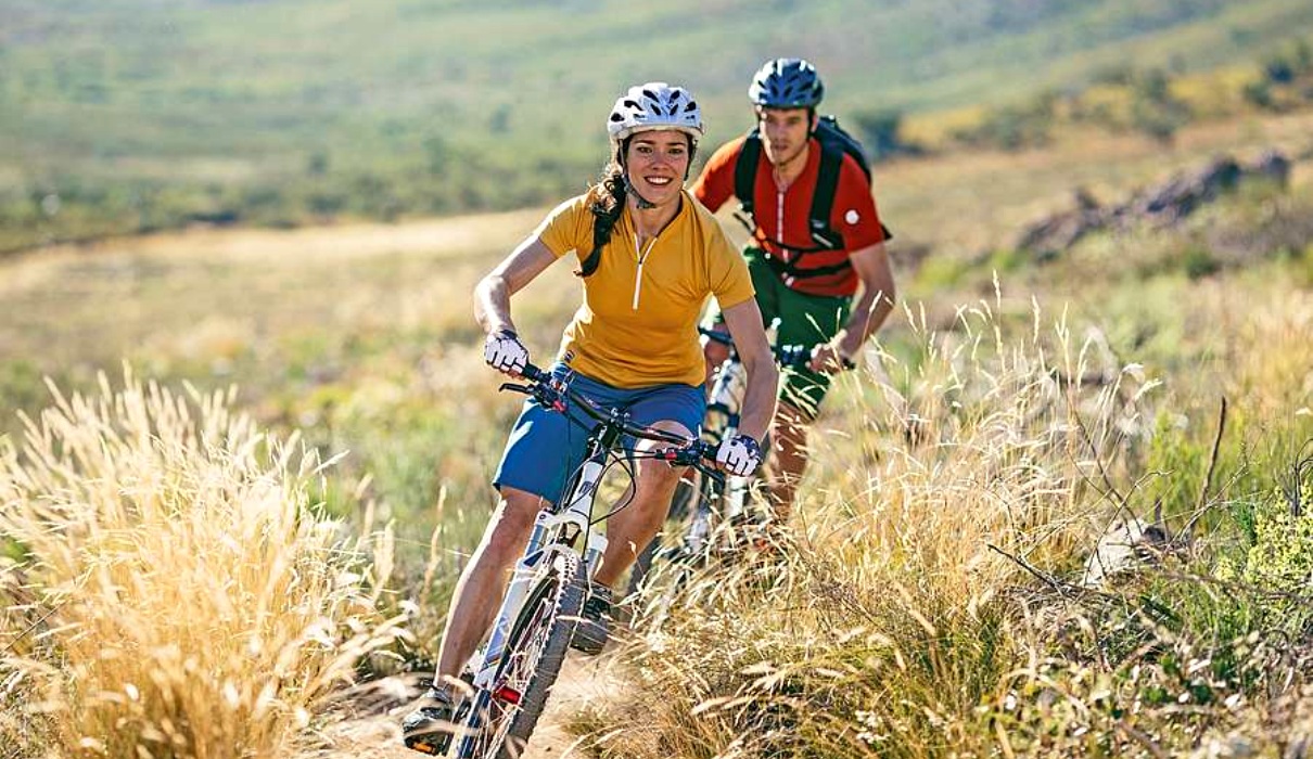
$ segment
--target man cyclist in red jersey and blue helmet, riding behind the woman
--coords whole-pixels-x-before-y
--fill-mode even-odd
[[[817,417],[831,375],[856,366],[863,343],[880,329],[894,303],[886,231],[869,180],[851,155],[840,152],[834,185],[829,229],[836,235],[823,241],[813,235],[813,201],[823,186],[823,148],[815,136],[823,94],[821,77],[806,60],[767,62],[748,87],[759,136],[750,134],[722,146],[693,184],[693,195],[716,211],[735,194],[735,170],[755,170],[748,198],[752,239],[743,256],[758,305],[764,319],[780,319],[780,345],[817,346],[806,370],[785,372],[780,388],[769,482],[776,526],[792,511],[807,464],[807,426]],[[750,139],[759,139],[759,149],[746,152],[746,147],[756,147],[748,146]],[[741,156],[754,153],[755,169],[738,166]],[[727,355],[714,341],[705,351],[710,367]]]

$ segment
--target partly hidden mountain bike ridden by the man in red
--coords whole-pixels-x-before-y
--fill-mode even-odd
[[[773,336],[777,328],[779,320],[771,324],[767,333]],[[738,434],[743,395],[747,389],[747,368],[734,350],[734,341],[729,334],[705,328],[699,328],[699,332],[706,340],[730,349],[729,358],[721,363],[712,380],[706,416],[702,419],[702,440],[714,450],[721,440]],[[802,368],[811,359],[811,350],[801,345],[773,346],[772,353],[781,368]],[[768,447],[765,442],[764,447]],[[667,518],[684,523],[679,541],[662,548],[658,536],[638,555],[629,573],[629,594],[639,591],[654,561],[695,565],[709,558],[716,551],[733,552],[748,541],[747,532],[765,522],[762,507],[752,505],[755,485],[755,476],[705,477],[696,469],[681,480]],[[679,585],[685,574],[680,573],[675,585]]]

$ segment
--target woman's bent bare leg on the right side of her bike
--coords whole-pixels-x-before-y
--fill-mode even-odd
[[[692,433],[675,422],[658,422],[653,426],[692,437]],[[668,443],[645,440],[638,446],[638,450],[647,451],[668,446]],[[593,575],[596,582],[614,587],[620,575],[656,536],[656,531],[660,530],[662,522],[666,520],[666,514],[670,511],[670,499],[675,494],[675,485],[679,484],[680,475],[683,475],[681,468],[671,467],[664,461],[638,460],[633,502],[607,520],[607,553],[603,556],[601,568]]]

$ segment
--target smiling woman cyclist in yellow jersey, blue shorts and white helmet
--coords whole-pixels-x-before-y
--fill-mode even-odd
[[[611,161],[601,181],[553,210],[475,287],[475,317],[487,333],[484,360],[519,376],[529,353],[511,320],[511,296],[574,252],[583,303],[551,372],[569,376],[597,405],[628,410],[635,423],[693,439],[706,410],[697,321],[714,295],[748,372],[742,434],[720,446],[717,463],[731,473],[751,473],[762,459],[758,440],[775,413],[779,374],[743,258],[684,189],[702,136],[701,109],[684,88],[647,83],[616,101],[607,130]],[[525,404],[492,478],[499,505],[452,598],[435,686],[402,721],[411,749],[440,754],[450,742],[452,686],[496,616],[534,516],[544,502],[562,497],[583,463],[586,438],[587,430],[565,414]],[[659,443],[637,448],[651,446]],[[596,653],[605,644],[609,589],[655,536],[680,473],[637,459],[632,498],[608,518],[607,551],[575,648]]]

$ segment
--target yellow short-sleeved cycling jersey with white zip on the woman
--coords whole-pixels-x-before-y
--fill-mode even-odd
[[[566,201],[544,219],[537,237],[558,258],[592,252],[597,190]],[[617,388],[681,383],[705,375],[697,321],[710,295],[721,309],[752,298],[743,257],[720,222],[685,190],[675,219],[638,250],[629,207],[601,250],[597,270],[583,278],[583,304],[561,341],[561,359]]]

